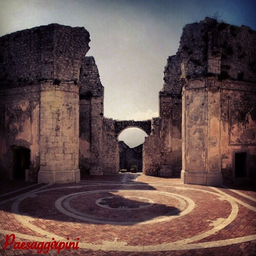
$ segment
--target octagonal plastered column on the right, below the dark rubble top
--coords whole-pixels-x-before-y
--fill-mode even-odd
[[[208,78],[189,81],[182,93],[182,181],[220,185],[220,90]]]

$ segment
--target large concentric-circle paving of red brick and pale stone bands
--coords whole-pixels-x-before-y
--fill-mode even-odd
[[[140,252],[207,248],[256,239],[253,229],[246,236],[231,239],[225,238],[226,232],[222,234],[226,228],[232,230],[234,225],[230,224],[238,218],[239,209],[241,214],[244,208],[255,214],[253,206],[217,188],[203,188],[166,182],[104,182],[37,190],[14,201],[12,212],[18,223],[38,236],[16,236],[35,241],[52,237],[75,240],[79,236],[80,248]],[[60,222],[65,224],[55,228]],[[222,239],[207,242],[216,234]]]

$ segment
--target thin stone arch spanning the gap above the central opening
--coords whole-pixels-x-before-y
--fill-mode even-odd
[[[114,120],[115,124],[115,136],[118,138],[119,134],[128,128],[139,128],[150,135],[151,132],[151,120],[134,121],[134,120]]]

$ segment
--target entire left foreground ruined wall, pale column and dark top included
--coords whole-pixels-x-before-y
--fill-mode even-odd
[[[0,38],[1,136],[8,138],[0,146],[4,176],[9,172],[12,178],[14,160],[10,154],[6,161],[6,152],[22,147],[30,150],[29,180],[80,180],[78,83],[89,41],[84,28],[58,24]]]

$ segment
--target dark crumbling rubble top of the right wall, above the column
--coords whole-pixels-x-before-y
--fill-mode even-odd
[[[182,76],[218,75],[256,81],[256,31],[206,17],[183,28],[178,56]]]

